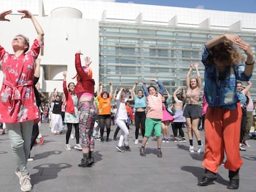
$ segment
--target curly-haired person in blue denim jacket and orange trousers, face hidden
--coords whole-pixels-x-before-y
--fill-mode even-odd
[[[240,50],[247,55],[245,64]],[[223,34],[205,43],[202,62],[205,65],[204,94],[208,103],[205,115],[205,176],[198,185],[207,186],[216,180],[224,159],[229,170],[228,189],[239,188],[239,152],[242,109],[236,95],[236,80],[249,81],[254,70],[254,54],[249,43],[238,35]]]

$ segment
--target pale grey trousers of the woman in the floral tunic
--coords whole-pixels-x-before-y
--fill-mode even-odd
[[[22,123],[6,123],[14,160],[22,175],[28,174],[27,160],[30,154],[33,123],[33,120]]]

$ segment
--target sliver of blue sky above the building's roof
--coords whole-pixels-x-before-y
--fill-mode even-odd
[[[104,0],[103,0],[104,1]],[[210,10],[256,13],[256,0],[105,0],[150,4],[158,6],[187,7]]]

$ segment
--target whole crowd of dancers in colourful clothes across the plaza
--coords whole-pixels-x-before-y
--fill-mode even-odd
[[[0,14],[1,21],[9,21]],[[216,180],[218,167],[224,163],[229,170],[229,189],[239,188],[239,169],[242,166],[241,151],[249,147],[249,137],[255,137],[255,106],[250,97],[252,83],[250,77],[254,69],[254,57],[249,44],[237,35],[224,34],[213,38],[203,46],[202,62],[205,77],[202,82],[198,63],[190,62],[186,77],[186,89],[176,88],[171,95],[161,80],[152,78],[147,82],[135,82],[133,88],[117,87],[113,95],[113,85],[109,82],[109,91],[99,83],[95,93],[95,81],[90,68],[92,61],[85,57],[82,65],[82,53],[75,53],[74,77],[76,83],[67,84],[67,73],[63,72],[63,87],[60,94],[54,89],[49,100],[36,88],[39,79],[40,61],[36,60],[43,46],[43,29],[28,10],[19,10],[23,18],[32,20],[36,29],[36,40],[29,49],[29,41],[23,35],[12,40],[14,54],[9,54],[0,46],[0,58],[4,81],[1,88],[1,123],[8,130],[12,152],[17,164],[15,174],[19,177],[20,189],[31,191],[30,174],[27,161],[36,138],[40,135],[38,123],[48,123],[53,135],[63,133],[66,126],[64,148],[72,148],[69,139],[74,138],[74,149],[82,151],[79,167],[90,167],[95,163],[95,141],[108,142],[111,125],[116,125],[113,140],[121,130],[116,150],[131,151],[129,146],[129,125],[135,121],[135,141],[141,142],[139,154],[147,155],[148,138],[156,136],[156,156],[163,157],[162,143],[169,143],[169,127],[173,130],[174,142],[186,143],[183,128],[187,128],[189,152],[205,154],[202,165],[205,176],[198,185],[207,186]],[[239,50],[244,51],[244,58]],[[38,64],[39,62],[39,64]],[[196,77],[191,77],[193,70]],[[239,80],[239,81],[237,81]],[[246,81],[244,86],[242,81]],[[158,85],[158,88],[154,85]],[[141,88],[136,91],[137,86]],[[167,97],[164,97],[164,95]],[[42,102],[43,101],[43,102]],[[112,104],[114,102],[114,105]],[[134,106],[130,107],[130,102]],[[202,102],[202,109],[200,104]],[[41,116],[41,120],[40,120]],[[200,125],[201,122],[201,125]],[[184,126],[186,125],[186,126]],[[205,134],[205,143],[201,141],[199,127]],[[254,130],[251,131],[254,125]],[[2,133],[5,133],[2,128]],[[104,136],[106,130],[106,136]],[[179,136],[177,132],[179,130]],[[250,133],[253,132],[254,134]],[[140,140],[139,133],[142,138]],[[97,136],[96,136],[97,135]],[[194,148],[193,137],[197,140]],[[41,142],[41,140],[40,140]],[[41,144],[43,143],[43,140]],[[226,160],[224,161],[224,157]],[[223,162],[224,161],[224,162]]]

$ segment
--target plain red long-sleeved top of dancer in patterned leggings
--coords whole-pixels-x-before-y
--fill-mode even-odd
[[[93,78],[90,78],[88,73],[85,73],[83,70],[79,53],[75,54],[75,69],[78,75],[77,85],[75,85],[75,94],[90,93],[93,95],[95,82]]]

